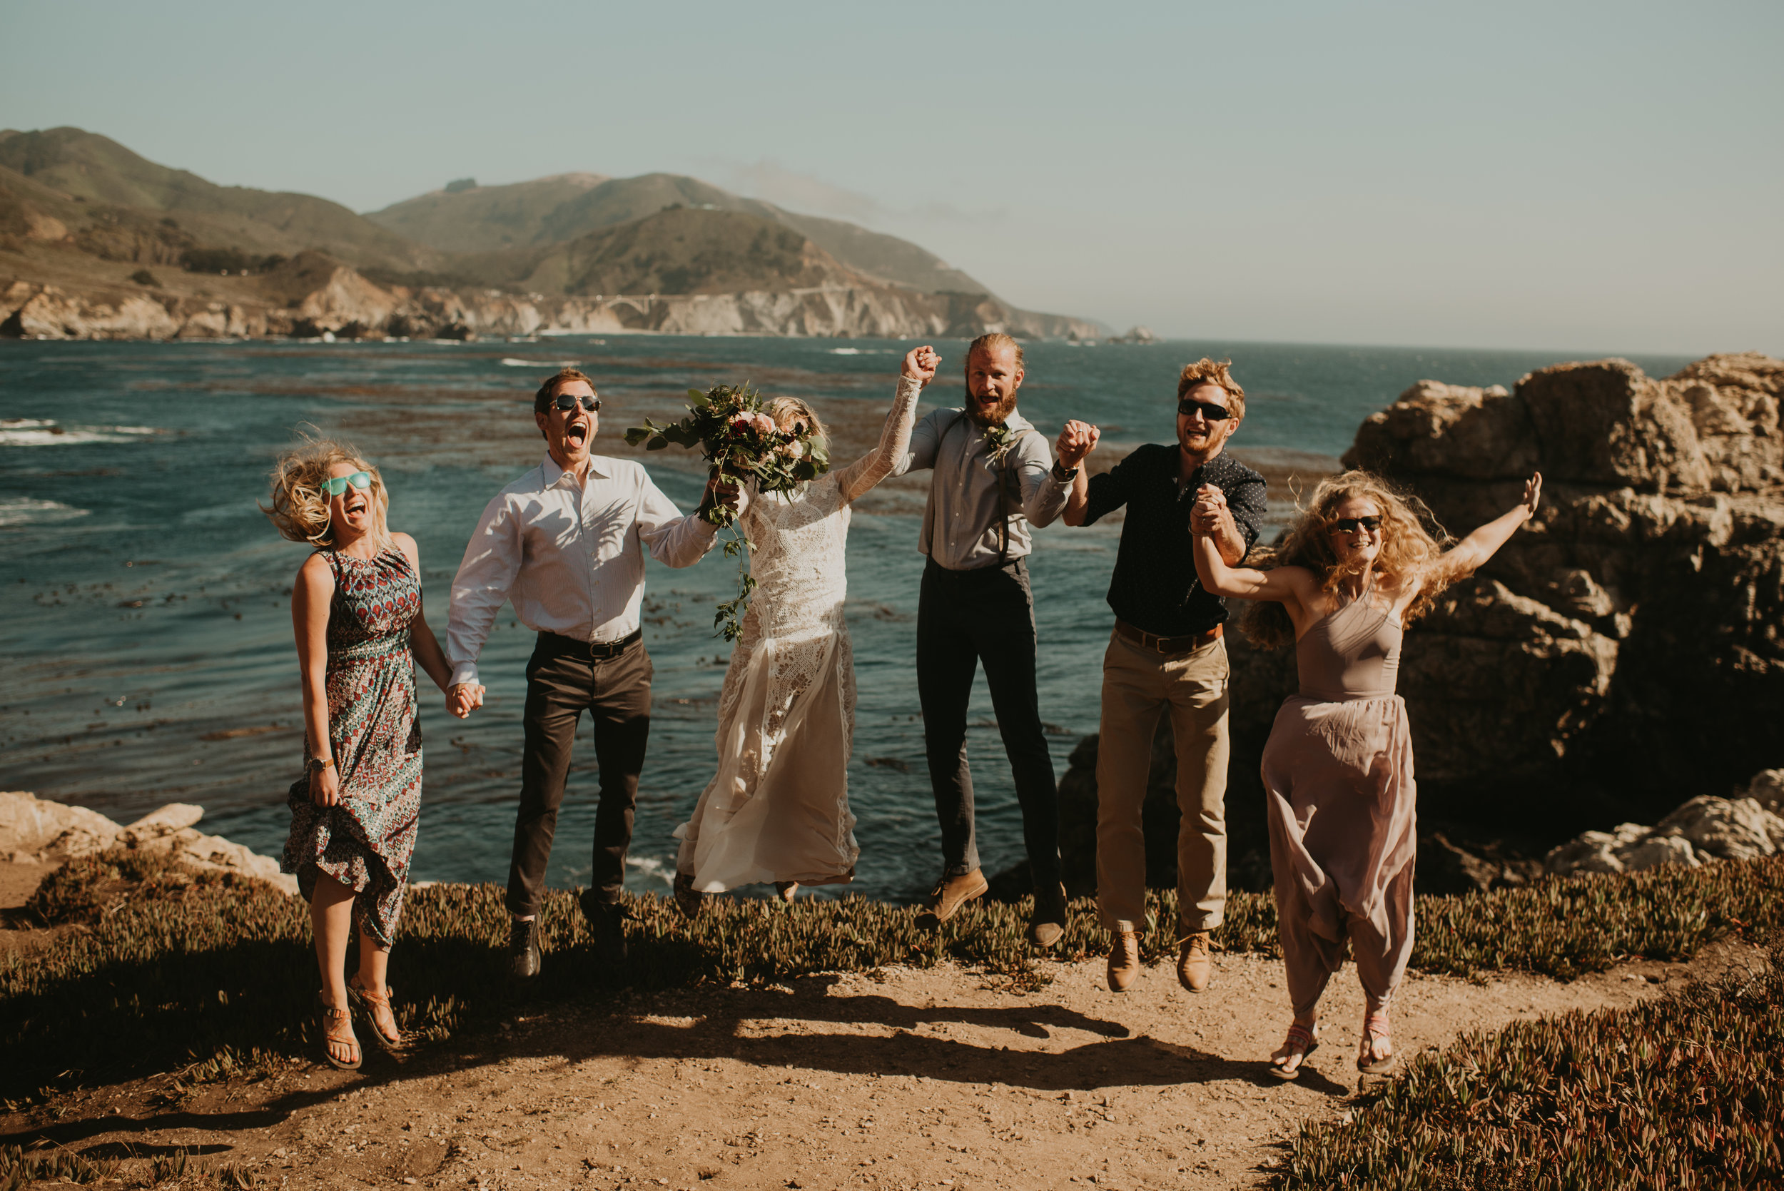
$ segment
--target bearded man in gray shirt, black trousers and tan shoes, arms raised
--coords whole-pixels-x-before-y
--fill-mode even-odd
[[[917,695],[942,824],[942,879],[917,922],[937,927],[988,888],[967,768],[967,701],[983,661],[1035,877],[1028,936],[1051,947],[1065,931],[1060,808],[1035,690],[1035,599],[1024,560],[1029,526],[1051,524],[1065,510],[1094,435],[1083,423],[1067,423],[1060,464],[1053,464],[1047,440],[1015,412],[1024,371],[1022,348],[1010,335],[974,339],[965,373],[963,403],[917,423],[910,453],[892,472],[935,471],[919,537],[929,560],[917,604]]]

